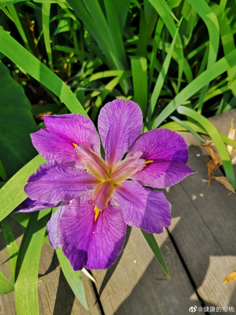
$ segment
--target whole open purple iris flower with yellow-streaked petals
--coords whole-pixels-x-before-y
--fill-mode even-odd
[[[74,270],[114,264],[127,224],[148,233],[161,233],[171,224],[163,192],[143,186],[169,187],[194,173],[186,165],[188,146],[181,135],[169,129],[139,135],[139,106],[114,100],[98,116],[104,161],[89,118],[67,114],[46,116],[44,122],[46,129],[31,138],[48,162],[30,176],[25,192],[41,203],[62,200],[48,222],[49,240],[54,248],[61,246]]]

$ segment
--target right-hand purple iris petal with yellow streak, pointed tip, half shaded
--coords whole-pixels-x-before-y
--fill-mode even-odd
[[[130,147],[129,157],[141,150],[145,167],[131,176],[143,186],[165,188],[195,173],[188,162],[188,146],[184,138],[169,129],[153,129],[140,135]]]

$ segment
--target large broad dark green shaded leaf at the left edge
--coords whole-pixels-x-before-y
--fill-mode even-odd
[[[8,68],[2,62],[0,102],[0,146],[4,148],[0,150],[0,160],[8,177],[11,177],[37,154],[30,133],[38,128],[24,89],[10,76]]]

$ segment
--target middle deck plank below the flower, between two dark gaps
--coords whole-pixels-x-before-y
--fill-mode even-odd
[[[173,220],[173,225],[177,223]],[[104,313],[183,314],[200,306],[167,230],[156,240],[170,271],[171,281],[159,266],[141,231],[135,226],[118,264],[93,271]]]

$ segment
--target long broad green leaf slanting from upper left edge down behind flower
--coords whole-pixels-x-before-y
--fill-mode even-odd
[[[84,108],[70,88],[55,73],[21,46],[13,37],[0,27],[0,51],[20,66],[25,72],[57,95],[72,113],[88,117]]]

